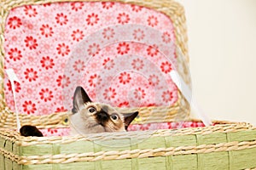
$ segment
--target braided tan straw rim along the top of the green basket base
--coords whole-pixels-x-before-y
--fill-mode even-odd
[[[198,121],[192,120],[191,121]],[[207,135],[210,133],[234,133],[244,130],[255,130],[252,124],[247,122],[224,122],[213,121],[216,124],[209,127],[185,127],[178,129],[158,129],[147,131],[129,131],[109,133],[89,133],[86,135],[50,136],[50,137],[24,137],[15,129],[0,127],[0,137],[14,142],[18,145],[33,144],[68,144],[75,141],[95,141],[106,139],[145,139],[149,137],[185,136],[185,135]]]

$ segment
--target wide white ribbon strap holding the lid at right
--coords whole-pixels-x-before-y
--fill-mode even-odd
[[[192,98],[192,91],[189,86],[183,81],[183,78],[179,76],[177,71],[172,70],[170,72],[172,81],[176,84],[179,91],[183,94],[184,98],[189,102],[191,108],[195,111],[196,115],[201,119],[205,126],[212,125],[209,117],[204,114],[199,105],[197,104],[195,98]]]

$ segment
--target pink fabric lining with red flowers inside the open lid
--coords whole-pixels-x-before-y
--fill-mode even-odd
[[[177,67],[174,27],[152,9],[100,2],[22,6],[10,11],[4,37],[4,67],[20,79],[22,113],[70,110],[78,85],[91,99],[119,107],[177,101],[168,75]],[[15,111],[7,77],[4,88]]]

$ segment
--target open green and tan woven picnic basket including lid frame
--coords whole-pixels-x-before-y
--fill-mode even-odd
[[[189,104],[178,92],[172,106],[122,108],[139,111],[133,124],[185,120],[183,128],[135,131],[127,133],[98,133],[86,136],[22,137],[15,131],[15,113],[6,101],[4,88],[4,42],[6,20],[12,9],[24,5],[45,5],[55,1],[3,1],[1,5],[0,53],[0,169],[255,169],[256,128],[243,122],[213,122],[203,127],[189,120]],[[67,1],[62,1],[67,2]],[[87,0],[86,2],[94,2]],[[95,1],[100,2],[100,1]],[[104,1],[102,1],[104,2]],[[108,1],[106,1],[108,2]],[[190,83],[187,35],[183,7],[173,1],[129,1],[129,3],[165,14],[174,26],[177,70]],[[154,114],[152,114],[154,112]],[[67,112],[32,116],[20,113],[21,125],[41,129],[67,128]],[[164,119],[163,119],[164,116]],[[178,117],[178,118],[177,118]],[[199,126],[199,127],[198,127]],[[201,127],[202,126],[202,127]],[[185,128],[186,127],[186,128]],[[168,128],[168,127],[167,127]],[[169,127],[171,128],[171,127]]]

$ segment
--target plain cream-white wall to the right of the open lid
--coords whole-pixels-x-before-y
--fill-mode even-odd
[[[211,119],[256,125],[256,1],[177,2],[186,11],[195,99]]]

